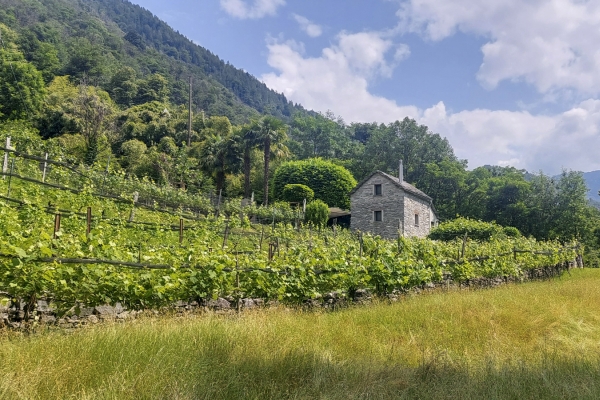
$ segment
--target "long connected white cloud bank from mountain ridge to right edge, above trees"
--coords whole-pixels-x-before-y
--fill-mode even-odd
[[[402,45],[376,33],[341,33],[319,57],[305,56],[302,48],[296,42],[269,43],[268,62],[276,72],[262,79],[309,109],[332,110],[348,122],[415,118],[447,137],[470,167],[512,165],[551,174],[562,167],[600,169],[600,100],[583,101],[557,115],[486,109],[450,112],[443,102],[422,110],[369,92],[372,79],[394,68],[386,61],[387,53],[408,52]]]

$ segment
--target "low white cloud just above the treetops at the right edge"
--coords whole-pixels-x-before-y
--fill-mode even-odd
[[[600,100],[586,100],[563,113],[470,110],[448,113],[443,103],[419,121],[446,136],[472,167],[512,165],[556,174],[564,168],[600,169]]]

